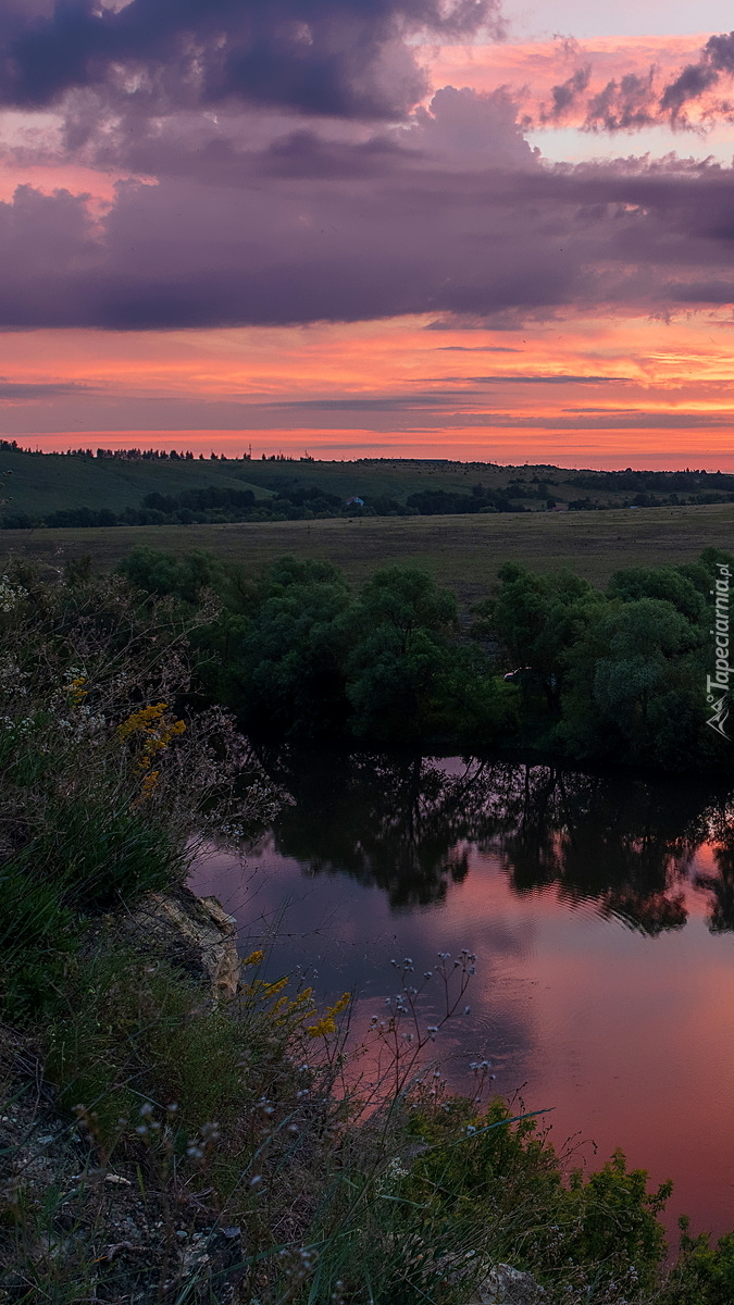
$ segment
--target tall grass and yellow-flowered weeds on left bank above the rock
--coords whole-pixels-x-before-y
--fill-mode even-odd
[[[0,1011],[13,1018],[54,1004],[50,970],[101,912],[183,880],[213,818],[272,810],[225,714],[182,718],[202,617],[141,608],[84,568],[1,581]]]

